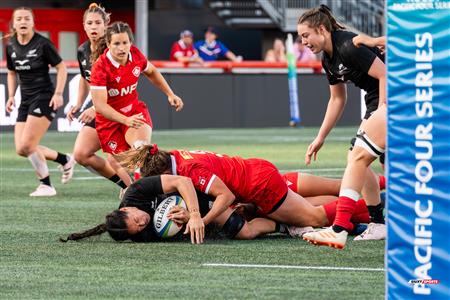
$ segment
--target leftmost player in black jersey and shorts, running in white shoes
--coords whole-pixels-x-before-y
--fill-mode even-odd
[[[20,85],[21,103],[14,128],[16,152],[27,157],[40,180],[30,196],[54,196],[46,160],[59,163],[62,183],[73,175],[74,159],[39,145],[48,130],[56,111],[63,105],[62,93],[67,71],[53,44],[34,32],[34,16],[29,8],[20,7],[12,15],[12,33],[6,48],[8,67],[8,101],[6,110],[15,107],[15,93]],[[50,80],[49,65],[55,67],[56,88]]]

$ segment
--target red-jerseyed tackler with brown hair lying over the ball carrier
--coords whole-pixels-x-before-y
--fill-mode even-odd
[[[196,190],[215,197],[211,210],[203,217],[205,225],[235,202],[254,203],[260,214],[296,227],[326,226],[334,218],[331,210],[313,206],[290,190],[277,168],[263,159],[243,159],[208,151],[168,152],[156,145],[145,145],[122,153],[118,161],[125,168],[139,167],[143,176],[189,177]],[[265,230],[259,233],[273,232],[274,228],[267,226]]]

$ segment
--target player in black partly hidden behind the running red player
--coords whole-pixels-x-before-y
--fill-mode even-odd
[[[89,5],[89,8],[84,12],[83,26],[88,40],[78,48],[77,57],[81,78],[77,102],[67,113],[69,121],[75,118],[75,114],[80,111],[89,95],[92,67],[91,53],[97,48],[100,38],[105,34],[106,26],[110,20],[109,15],[103,7],[95,3]],[[114,159],[111,159],[111,155],[108,155],[108,160],[105,160],[95,154],[100,149],[100,141],[95,130],[95,109],[92,103],[89,108],[81,113],[78,120],[85,126],[81,128],[75,141],[73,149],[75,160],[88,170],[108,178],[122,189],[129,186],[131,184],[130,176]]]

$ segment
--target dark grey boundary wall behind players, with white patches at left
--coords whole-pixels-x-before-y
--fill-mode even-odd
[[[64,91],[66,110],[76,101],[78,74],[69,74]],[[52,77],[54,79],[54,74]],[[182,112],[175,113],[166,97],[145,77],[138,85],[139,98],[149,107],[155,129],[181,128],[251,128],[288,126],[289,94],[286,74],[164,74],[174,91],[185,102]],[[299,74],[301,126],[320,126],[326,111],[329,90],[323,74]],[[70,96],[69,96],[70,94]],[[0,125],[12,130],[14,116],[6,114],[6,76],[0,76]],[[348,88],[348,105],[338,126],[360,123],[360,92]],[[58,122],[50,129],[71,131],[64,125],[63,109]],[[63,123],[61,123],[63,122]],[[59,125],[58,125],[59,123]]]

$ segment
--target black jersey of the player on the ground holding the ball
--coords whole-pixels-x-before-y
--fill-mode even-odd
[[[145,211],[151,217],[150,224],[147,225],[143,231],[134,236],[133,241],[151,242],[160,240],[153,227],[153,216],[158,205],[171,195],[179,196],[180,194],[164,194],[160,175],[143,177],[128,187],[119,207],[136,207]],[[197,197],[200,214],[204,216],[209,212],[214,198],[200,192],[197,192]]]

